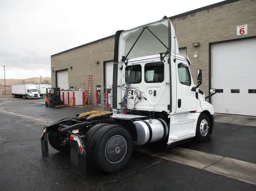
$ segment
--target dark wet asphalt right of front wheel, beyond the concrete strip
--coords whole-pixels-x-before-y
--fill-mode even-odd
[[[256,127],[216,122],[209,141],[179,146],[256,163]]]

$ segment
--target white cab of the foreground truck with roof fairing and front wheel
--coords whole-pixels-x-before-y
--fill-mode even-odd
[[[116,32],[113,112],[163,119],[168,125],[168,146],[194,137],[206,140],[214,125],[213,106],[198,88],[202,70],[197,70],[194,81],[192,63],[179,55],[178,47],[167,17]]]

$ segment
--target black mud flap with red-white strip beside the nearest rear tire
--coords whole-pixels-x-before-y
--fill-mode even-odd
[[[86,177],[89,166],[86,164],[85,146],[79,134],[70,133],[70,158],[72,169],[80,176]]]

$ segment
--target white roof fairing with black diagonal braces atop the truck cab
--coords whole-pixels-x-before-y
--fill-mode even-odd
[[[171,27],[168,28],[169,21],[169,19],[163,18],[158,21],[141,25],[136,28],[124,30],[123,32],[121,32],[119,38],[118,62],[120,63],[122,57],[126,57],[128,53],[129,55],[127,56],[127,59],[133,59],[138,57],[159,54],[160,52],[166,52],[167,48],[169,47],[168,31],[171,34],[171,51],[169,51],[169,53],[174,54],[174,52],[176,52],[176,54],[179,54],[177,38],[174,39],[174,27],[170,23]],[[146,28],[148,28],[150,31]],[[142,31],[143,33],[141,34]],[[151,32],[160,41],[162,41],[162,43],[165,46],[156,37],[154,37],[154,35]],[[140,38],[132,48],[133,44],[135,43],[140,34]],[[132,50],[130,51],[131,48]]]

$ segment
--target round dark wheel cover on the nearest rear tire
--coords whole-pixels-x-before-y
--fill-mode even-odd
[[[109,162],[118,163],[126,155],[127,144],[124,137],[116,135],[108,140],[105,155]]]

